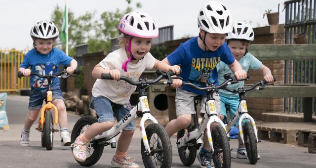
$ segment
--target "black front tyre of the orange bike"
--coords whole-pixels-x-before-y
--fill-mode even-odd
[[[45,123],[44,123],[44,142],[45,142],[45,147],[47,150],[52,150],[53,149],[53,142],[54,142],[54,128],[51,123],[52,119],[52,113],[51,111],[46,111],[45,112]]]

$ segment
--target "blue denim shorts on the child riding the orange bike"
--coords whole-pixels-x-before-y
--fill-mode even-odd
[[[64,100],[63,94],[61,93],[59,85],[51,86],[50,88],[53,91],[53,100],[62,99]],[[36,90],[31,87],[30,91],[30,102],[29,110],[38,110],[41,108],[44,99],[47,96],[47,89]]]

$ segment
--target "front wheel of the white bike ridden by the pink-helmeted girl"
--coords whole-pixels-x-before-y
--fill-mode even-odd
[[[147,139],[151,153],[146,149],[142,139],[141,153],[145,168],[170,168],[172,163],[172,147],[169,136],[159,124],[152,123],[146,128]],[[160,139],[160,143],[158,143]]]

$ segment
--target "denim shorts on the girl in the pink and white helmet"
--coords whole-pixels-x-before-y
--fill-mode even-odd
[[[90,107],[97,112],[99,123],[114,122],[114,115],[120,121],[132,109],[129,102],[124,105],[115,104],[103,96],[92,96]],[[135,130],[134,120],[124,130]]]

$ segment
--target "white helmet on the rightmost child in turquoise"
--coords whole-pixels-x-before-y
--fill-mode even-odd
[[[255,38],[254,35],[255,34],[253,33],[250,24],[242,21],[237,21],[233,23],[233,32],[229,33],[226,39],[240,39],[252,42]]]

